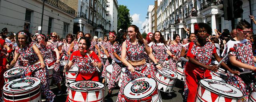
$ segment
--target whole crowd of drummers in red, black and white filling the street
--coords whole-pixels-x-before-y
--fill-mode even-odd
[[[143,38],[135,25],[112,31],[103,38],[78,31],[75,37],[68,34],[60,39],[56,32],[32,35],[26,30],[13,33],[4,28],[0,34],[0,88],[3,88],[0,102],[14,102],[12,96],[3,94],[7,90],[4,87],[12,80],[26,77],[39,78],[41,95],[46,102],[54,102],[62,93],[71,91],[62,90],[61,82],[62,74],[67,77],[74,67],[78,70],[72,82],[90,80],[106,84],[108,94],[95,102],[112,98],[112,90],[116,87],[120,87],[117,102],[161,102],[160,95],[154,98],[155,95],[162,91],[171,96],[177,76],[184,83],[183,95],[187,102],[216,102],[216,98],[221,102],[222,97],[226,102],[256,102],[256,35],[253,35],[251,24],[241,20],[235,29],[224,29],[222,33],[218,30],[212,32],[206,23],[195,24],[193,33],[186,27],[184,29],[187,37],[183,39],[178,34],[164,39],[160,31],[148,33]],[[4,73],[17,67],[24,68],[24,73],[6,81]],[[151,82],[148,82],[149,86],[144,81],[138,83],[148,78],[156,84],[156,90],[151,93],[146,93],[151,90],[147,89],[152,86]],[[72,88],[69,87],[72,82],[65,82],[68,88]],[[51,84],[57,86],[56,94],[50,90]],[[132,85],[126,88],[128,84]],[[205,91],[218,95],[204,96]],[[135,96],[147,95],[134,99],[129,97],[132,92]],[[232,96],[232,92],[241,93],[241,96]],[[71,95],[72,99],[68,96],[66,102],[78,102],[75,98],[80,97],[76,95]],[[211,98],[208,100],[208,97]]]

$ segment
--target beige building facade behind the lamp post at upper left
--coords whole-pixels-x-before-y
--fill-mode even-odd
[[[58,4],[57,4],[58,2]],[[0,0],[0,27],[34,34],[41,26],[42,0]],[[59,0],[45,0],[42,33],[53,31],[60,37],[73,33],[75,10]]]

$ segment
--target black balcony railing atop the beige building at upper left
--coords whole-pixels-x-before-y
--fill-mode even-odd
[[[76,10],[61,2],[60,0],[45,0],[45,2],[72,16],[76,16]]]

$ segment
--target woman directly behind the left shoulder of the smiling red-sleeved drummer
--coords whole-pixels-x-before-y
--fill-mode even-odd
[[[71,43],[71,45],[70,45],[70,47],[68,49],[68,55],[70,55],[71,49],[73,49],[73,52],[74,51],[78,51],[78,39],[79,39],[79,37],[83,37],[83,36],[84,36],[84,32],[82,32],[82,31],[78,31],[76,33],[76,38],[75,38],[74,41],[72,41],[72,43]]]

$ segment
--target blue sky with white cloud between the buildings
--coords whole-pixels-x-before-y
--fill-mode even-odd
[[[154,5],[154,0],[118,0],[119,5],[125,5],[130,10],[132,24],[140,28],[142,33],[143,25],[146,24],[148,5]]]

